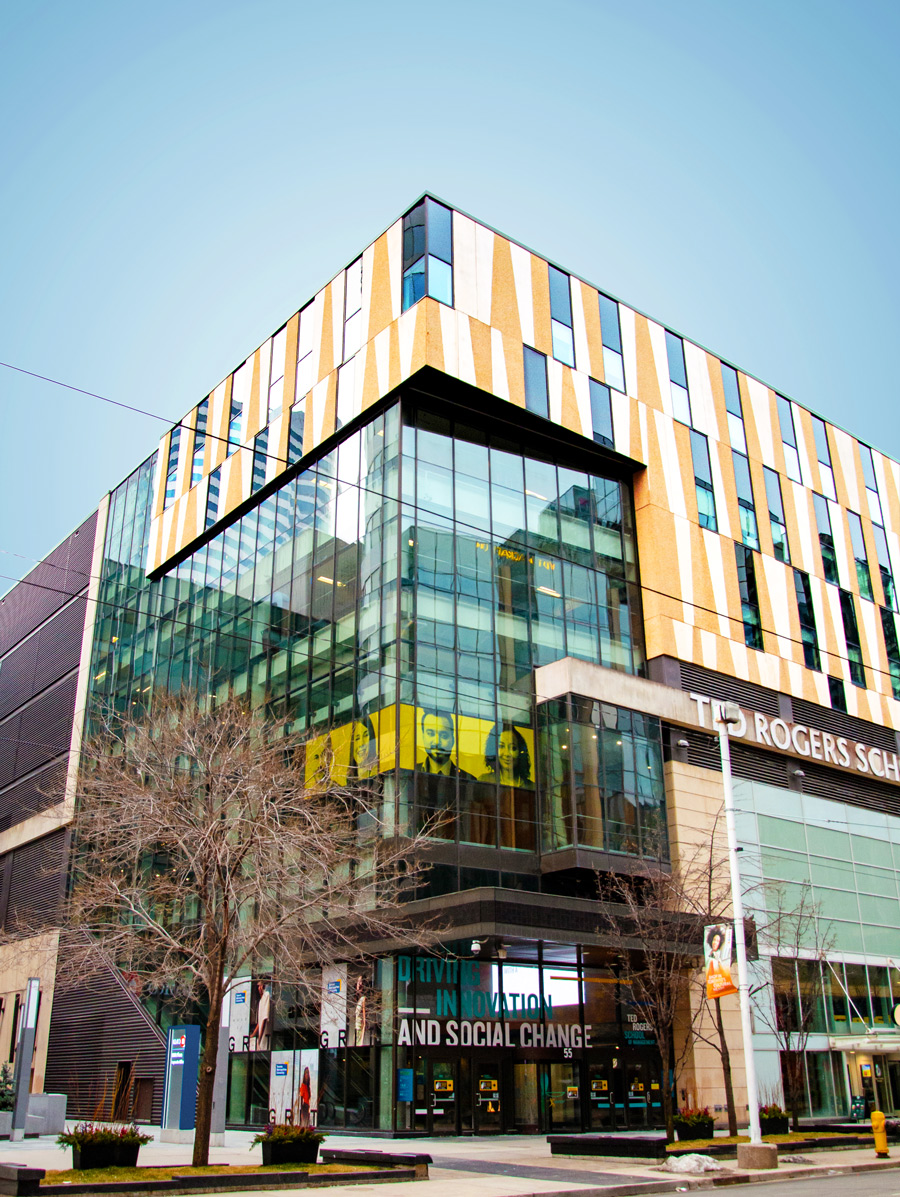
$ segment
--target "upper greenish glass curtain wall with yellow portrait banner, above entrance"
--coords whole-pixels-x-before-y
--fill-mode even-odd
[[[643,668],[626,484],[397,405],[151,582],[154,468],[113,494],[95,699],[245,694],[311,730],[310,768],[330,740],[335,782],[382,774],[391,830],[559,845],[567,816],[540,814],[533,670],[566,655]],[[639,852],[661,809],[658,728],[614,723],[634,747],[614,765],[610,741],[600,797],[576,783],[578,836]]]

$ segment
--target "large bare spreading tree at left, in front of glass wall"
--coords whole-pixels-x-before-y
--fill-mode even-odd
[[[315,1001],[321,962],[430,938],[403,901],[424,833],[379,822],[376,783],[335,784],[323,745],[183,693],[83,752],[63,968],[84,978],[99,959],[205,1011],[194,1165],[208,1162],[229,978],[264,971]]]

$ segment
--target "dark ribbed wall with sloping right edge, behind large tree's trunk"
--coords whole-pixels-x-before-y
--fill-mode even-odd
[[[135,1089],[152,1086],[150,1117],[163,1117],[165,1037],[139,1002],[111,972],[92,977],[78,988],[57,988],[50,1014],[44,1089],[68,1096],[69,1118],[93,1118],[97,1110],[109,1117],[120,1064],[130,1065]],[[134,1106],[121,1116],[140,1117]]]

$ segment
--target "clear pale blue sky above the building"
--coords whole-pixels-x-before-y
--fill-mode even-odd
[[[176,420],[428,189],[900,456],[899,34],[865,0],[7,4],[0,360]],[[2,369],[0,411],[19,577],[164,425]]]

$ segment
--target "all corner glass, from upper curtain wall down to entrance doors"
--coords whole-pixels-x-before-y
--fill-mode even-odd
[[[484,886],[592,898],[592,869],[553,853],[667,856],[659,723],[572,695],[536,706],[534,670],[565,656],[643,670],[630,485],[601,455],[579,469],[565,445],[457,411],[401,399],[226,527],[213,519],[152,581],[147,461],[111,497],[93,697],[140,710],[157,687],[187,686],[287,712],[310,730],[310,768],[328,746],[336,782],[379,778],[385,830],[430,828],[421,898]],[[251,1041],[248,979],[232,1007],[229,1122],[281,1118],[282,1078],[306,1070],[323,1126],[658,1122],[658,1057],[636,1038],[628,994],[608,970],[594,977],[577,943],[548,944],[535,918],[522,907],[506,962],[451,944],[443,982],[408,958],[359,976],[336,961],[321,1011],[274,985],[264,1045]],[[426,1009],[427,1032],[409,1021]],[[437,1049],[416,1050],[434,1033]]]

